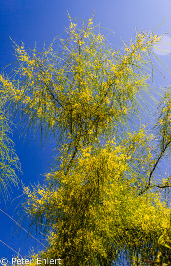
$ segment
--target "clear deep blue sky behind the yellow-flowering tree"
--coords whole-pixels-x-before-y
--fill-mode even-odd
[[[14,49],[11,39],[19,45],[21,41],[26,47],[33,48],[36,42],[37,50],[43,49],[44,40],[48,46],[53,38],[64,33],[64,27],[68,27],[69,19],[67,11],[73,18],[80,17],[85,21],[91,17],[95,10],[94,24],[109,28],[115,32],[110,35],[113,45],[121,46],[121,39],[127,41],[134,38],[135,27],[137,31],[143,29],[154,30],[164,20],[163,24],[156,30],[156,34],[163,34],[171,29],[171,1],[170,0],[6,0],[0,1],[0,68],[15,61],[12,55]],[[171,37],[171,32],[168,33]],[[171,55],[171,53],[170,53]],[[160,59],[171,69],[171,58],[160,56]],[[155,78],[156,86],[170,84],[171,78],[167,75],[167,82],[158,75]],[[45,170],[52,159],[51,149],[54,143],[47,143],[45,149],[37,140],[31,143],[30,139],[23,144],[19,140],[19,130],[14,129],[13,141],[15,150],[21,162],[22,175],[19,178],[23,183],[29,185],[34,182],[43,181]],[[21,182],[19,189],[12,187],[11,200],[7,202],[5,210],[4,202],[0,203],[0,209],[5,210],[10,216],[17,219],[14,212],[19,200],[13,200],[22,194]],[[12,201],[13,200],[13,201]],[[12,227],[14,228],[12,229]],[[27,226],[25,229],[28,229]],[[35,240],[29,238],[21,230],[21,235],[14,236],[16,226],[4,213],[0,211],[0,240],[9,245],[15,251],[20,250],[22,256],[28,254],[32,247],[36,249]],[[34,234],[34,233],[33,233]],[[0,242],[0,258],[6,257],[11,261],[15,253]]]

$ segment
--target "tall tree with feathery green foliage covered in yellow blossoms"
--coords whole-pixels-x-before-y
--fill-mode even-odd
[[[162,233],[171,243],[163,197],[171,178],[157,170],[171,149],[170,88],[152,129],[142,124],[151,115],[152,47],[161,37],[137,33],[115,50],[93,17],[81,29],[77,22],[70,18],[57,51],[54,42],[43,53],[14,42],[14,76],[1,75],[1,93],[21,111],[25,133],[57,141],[44,185],[23,186],[26,219],[47,238],[43,258],[65,266],[148,265]]]

